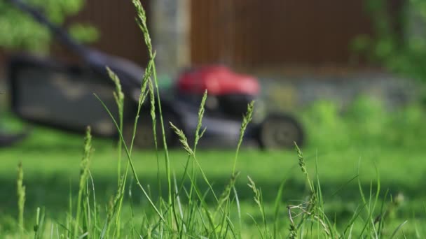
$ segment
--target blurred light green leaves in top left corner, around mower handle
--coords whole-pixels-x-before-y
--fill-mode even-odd
[[[84,0],[29,0],[48,19],[62,25],[64,20],[83,8]],[[97,30],[87,24],[71,24],[71,36],[78,41],[95,41]],[[46,27],[34,21],[27,13],[11,5],[8,0],[0,1],[0,48],[8,50],[27,50],[30,52],[48,52],[51,41]]]

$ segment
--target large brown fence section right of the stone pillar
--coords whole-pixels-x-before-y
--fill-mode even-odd
[[[392,6],[395,5],[394,1]],[[349,44],[371,34],[364,0],[193,0],[193,64],[348,64]],[[398,5],[396,5],[398,6]]]

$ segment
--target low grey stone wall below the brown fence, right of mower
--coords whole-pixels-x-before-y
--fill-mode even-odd
[[[359,96],[383,101],[388,108],[419,99],[413,80],[387,73],[353,73],[345,76],[306,75],[298,78],[261,78],[262,94],[269,108],[295,111],[315,101],[333,101],[343,108]]]

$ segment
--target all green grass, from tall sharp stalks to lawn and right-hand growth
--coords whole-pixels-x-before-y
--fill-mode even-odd
[[[204,98],[191,132],[195,144],[172,125],[183,149],[167,150],[155,52],[144,10],[133,2],[151,57],[139,109],[150,99],[154,125],[163,131],[154,138],[165,150],[135,150],[122,137],[118,144],[92,139],[89,130],[83,143],[81,136],[35,128],[0,152],[1,238],[425,237],[421,106],[387,111],[360,99],[341,112],[320,102],[301,114],[308,132],[303,152],[262,152],[240,148],[249,104],[236,151],[206,151],[197,150]],[[120,82],[110,75],[121,112]],[[114,122],[121,136],[123,119]]]

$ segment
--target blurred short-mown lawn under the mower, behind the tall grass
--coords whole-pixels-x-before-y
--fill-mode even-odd
[[[90,171],[95,182],[95,196],[98,203],[107,205],[117,187],[116,147],[112,140],[98,138],[94,139],[94,145],[95,152]],[[71,193],[75,196],[78,190],[82,146],[83,136],[36,128],[25,142],[15,147],[1,149],[0,230],[3,233],[11,229],[8,227],[13,227],[11,221],[16,218],[18,212],[15,188],[17,166],[20,162],[24,169],[27,191],[25,203],[27,226],[31,226],[30,222],[35,217],[36,207],[45,208],[48,218],[58,221],[64,219],[69,207],[69,195]],[[311,143],[302,150],[310,177],[314,179],[317,173],[319,175],[324,194],[324,210],[331,219],[336,220],[337,226],[345,226],[357,207],[362,205],[358,180],[364,194],[369,197],[370,191],[373,193],[376,191],[380,178],[380,196],[383,198],[387,194],[385,206],[390,205],[390,196],[398,197],[402,202],[392,215],[390,221],[393,225],[392,230],[408,220],[404,225],[404,233],[426,235],[421,226],[426,223],[426,149],[377,144],[371,147],[322,150]],[[230,180],[235,152],[198,150],[197,154],[203,171],[213,184],[216,194],[220,195]],[[153,198],[159,193],[163,195],[167,193],[163,152],[159,152],[158,157],[161,190],[158,189],[156,152],[136,150],[133,154],[139,180],[144,187],[149,188]],[[125,159],[123,157],[123,168],[127,162]],[[170,159],[172,173],[176,175],[177,182],[181,182],[187,160],[186,153],[179,148],[171,150]],[[282,196],[284,206],[298,204],[308,195],[308,187],[298,167],[297,154],[294,150],[263,152],[256,148],[244,148],[238,158],[237,170],[240,171],[240,175],[236,189],[242,205],[243,220],[248,226],[252,225],[252,219],[247,213],[256,217],[259,212],[253,201],[253,191],[247,186],[247,176],[261,188],[266,214],[270,217],[273,215],[273,203],[282,180],[286,180]],[[202,178],[199,180],[202,182]],[[207,186],[201,189],[207,191]],[[133,191],[133,201],[137,208],[135,214],[149,213],[151,209],[147,205],[146,198],[137,189]],[[207,194],[207,198],[209,197],[213,203],[211,194]],[[282,208],[281,214],[284,221],[288,220],[285,208]],[[253,229],[254,233],[255,230]]]

